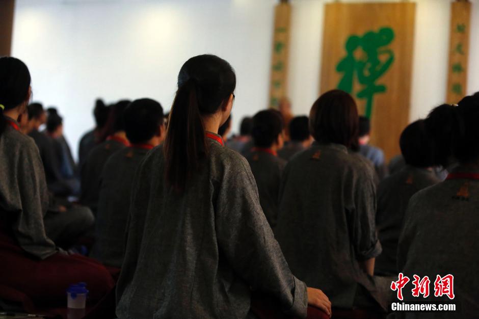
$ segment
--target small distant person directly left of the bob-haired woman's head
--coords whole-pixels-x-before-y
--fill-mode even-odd
[[[278,156],[285,161],[311,146],[313,137],[309,133],[309,119],[307,116],[297,116],[289,122],[290,140],[278,151]]]

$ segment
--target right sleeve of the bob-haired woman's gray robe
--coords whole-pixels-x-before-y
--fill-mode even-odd
[[[360,174],[355,182],[355,214],[352,216],[352,243],[359,261],[375,258],[382,252],[376,231],[376,190],[368,174]]]

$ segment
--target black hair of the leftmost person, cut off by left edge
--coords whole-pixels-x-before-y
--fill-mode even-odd
[[[0,136],[7,127],[5,110],[11,110],[29,98],[30,71],[20,60],[12,57],[0,58]]]

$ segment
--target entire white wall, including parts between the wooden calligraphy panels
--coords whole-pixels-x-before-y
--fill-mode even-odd
[[[291,0],[289,95],[297,114],[307,114],[317,97],[323,8],[331,1]],[[479,0],[472,2],[468,93],[479,90]],[[244,115],[268,103],[276,3],[17,0],[12,55],[31,70],[34,99],[57,105],[64,115],[75,150],[79,137],[93,126],[96,97],[152,97],[168,110],[181,64],[205,52],[228,60],[236,70],[236,130]],[[416,3],[411,120],[445,97],[450,16],[450,0]]]

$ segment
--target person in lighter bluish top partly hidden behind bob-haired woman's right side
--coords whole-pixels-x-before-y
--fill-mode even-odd
[[[369,145],[371,126],[365,116],[359,117],[359,153],[374,164],[379,180],[387,176],[387,165],[382,149]]]

